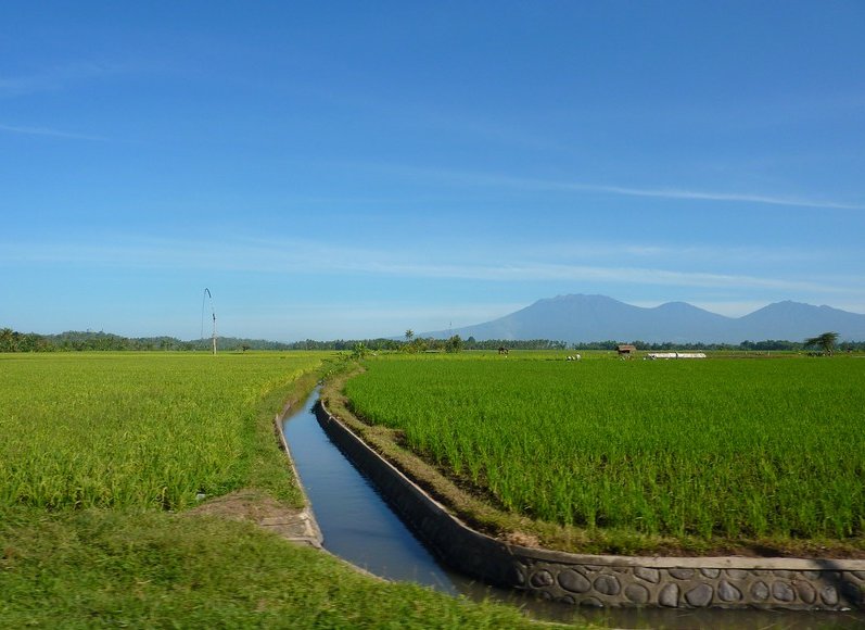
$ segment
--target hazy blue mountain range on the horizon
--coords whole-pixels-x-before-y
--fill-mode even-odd
[[[865,340],[865,315],[801,302],[776,302],[745,315],[727,317],[686,302],[651,308],[606,295],[558,295],[538,300],[498,319],[422,333],[437,339],[555,339],[568,343],[641,340],[649,343],[741,343],[767,339],[802,341],[826,331],[842,341]]]

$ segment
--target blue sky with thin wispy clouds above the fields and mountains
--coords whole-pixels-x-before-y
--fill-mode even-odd
[[[0,327],[209,337],[205,288],[280,341],[569,293],[865,313],[863,33],[860,0],[7,0]]]

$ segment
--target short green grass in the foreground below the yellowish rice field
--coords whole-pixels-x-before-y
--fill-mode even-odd
[[[0,593],[2,628],[530,627],[247,524],[158,512],[0,506]]]

